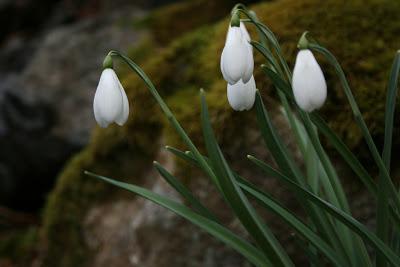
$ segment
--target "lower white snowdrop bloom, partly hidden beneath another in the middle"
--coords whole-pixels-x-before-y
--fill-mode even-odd
[[[242,80],[234,85],[228,83],[228,102],[236,111],[249,110],[253,107],[256,98],[256,83],[253,75],[247,83]]]

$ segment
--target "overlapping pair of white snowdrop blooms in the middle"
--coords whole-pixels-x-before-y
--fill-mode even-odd
[[[234,14],[221,54],[221,72],[228,82],[228,102],[237,111],[251,109],[255,100],[253,47],[249,42],[246,26]]]

